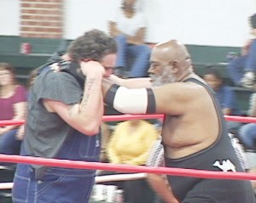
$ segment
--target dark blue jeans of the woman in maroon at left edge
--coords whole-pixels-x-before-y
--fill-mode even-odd
[[[18,140],[15,135],[18,129],[10,130],[3,135],[0,135],[0,154],[19,155],[21,140]]]

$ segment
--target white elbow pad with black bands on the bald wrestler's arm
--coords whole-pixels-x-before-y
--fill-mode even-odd
[[[151,88],[126,88],[113,85],[105,97],[108,105],[125,114],[155,112],[154,93]]]

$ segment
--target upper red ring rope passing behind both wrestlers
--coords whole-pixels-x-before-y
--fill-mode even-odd
[[[113,116],[103,116],[102,121],[124,121],[131,119],[163,119],[164,115],[162,114],[149,114],[149,115],[113,115]],[[256,117],[247,117],[247,116],[224,116],[226,121],[236,121],[236,122],[256,122]],[[3,126],[20,126],[24,124],[24,120],[12,121],[12,120],[3,120],[0,121],[0,127]]]

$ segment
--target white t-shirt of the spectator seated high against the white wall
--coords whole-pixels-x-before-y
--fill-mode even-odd
[[[132,18],[127,18],[121,9],[113,14],[113,18],[109,21],[116,23],[117,29],[129,36],[134,36],[139,28],[146,26],[142,12],[137,12]]]

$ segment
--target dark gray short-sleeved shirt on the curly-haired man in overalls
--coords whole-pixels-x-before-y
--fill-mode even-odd
[[[24,147],[32,156],[53,158],[73,128],[55,113],[49,113],[42,99],[76,104],[82,98],[79,82],[66,72],[43,70],[32,86],[28,99]]]

